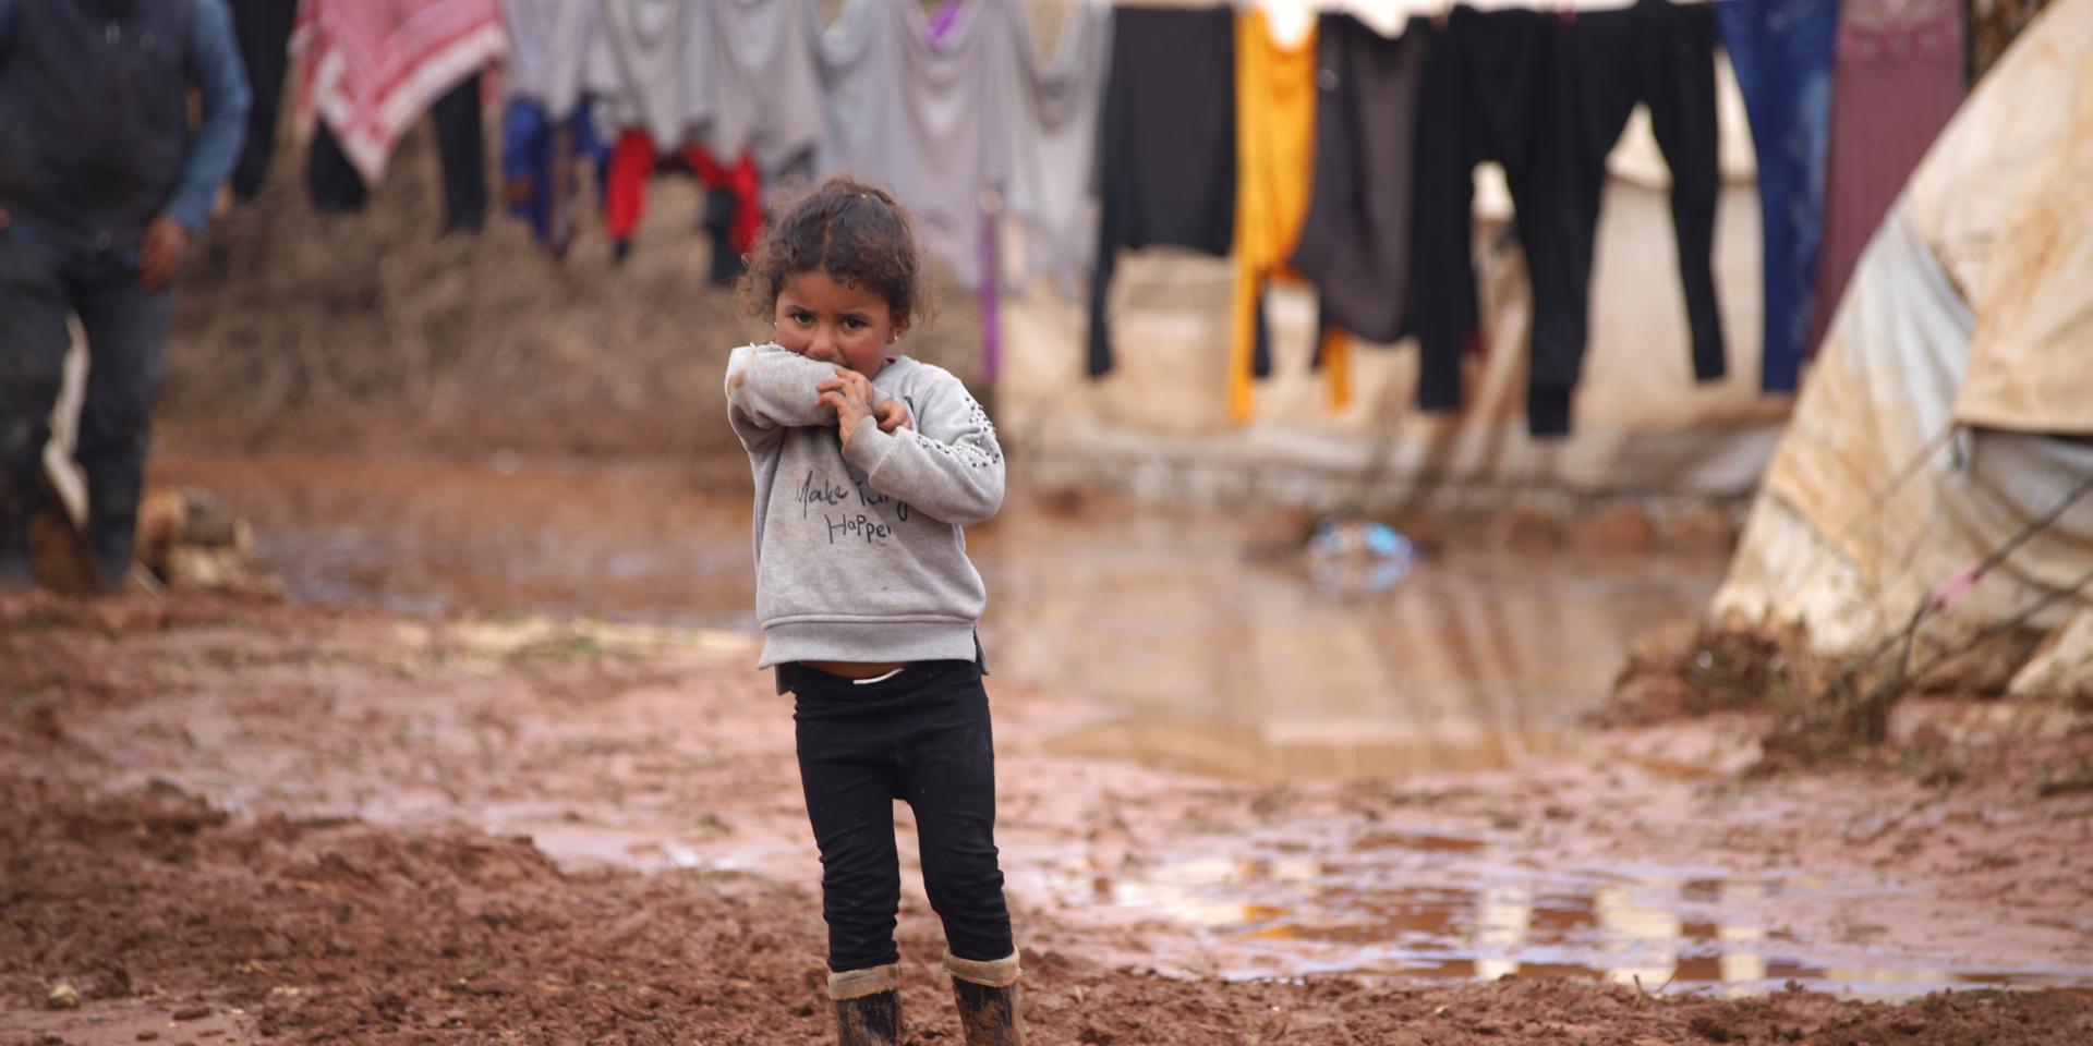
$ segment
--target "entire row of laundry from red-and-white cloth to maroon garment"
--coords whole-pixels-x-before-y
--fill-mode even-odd
[[[1840,0],[1794,4],[1836,10]],[[1913,10],[1932,17],[1934,6],[1955,6],[1953,0],[1844,4],[1861,15],[1856,29],[1838,29],[1842,75],[1846,65],[1861,69],[1875,54],[1911,52],[1873,44],[1867,33],[1911,23]],[[1528,414],[1536,435],[1570,429],[1607,157],[1628,113],[1645,105],[1668,167],[1662,188],[1674,203],[1693,374],[1710,381],[1725,370],[1708,276],[1708,230],[1723,169],[1714,144],[1720,36],[1737,63],[1754,138],[1779,142],[1760,149],[1758,163],[1769,389],[1792,385],[1783,374],[1794,374],[1810,316],[1829,310],[1829,301],[1813,310],[1808,295],[1798,299],[1796,291],[1815,278],[1819,234],[1819,218],[1796,205],[1796,192],[1821,192],[1808,186],[1823,178],[1823,167],[1813,174],[1802,157],[1825,151],[1798,151],[1783,136],[1810,128],[1823,134],[1825,113],[1808,107],[1823,107],[1831,92],[1810,84],[1829,75],[1838,23],[1775,19],[1769,4],[1750,0],[1250,0],[1241,6],[1084,0],[1070,4],[1063,36],[1044,56],[1023,0],[954,0],[936,19],[913,0],[848,0],[829,25],[816,0],[306,0],[303,6],[301,25],[312,29],[299,36],[306,48],[299,79],[312,96],[301,105],[347,130],[345,151],[366,178],[383,167],[387,134],[396,136],[412,117],[410,94],[446,88],[435,79],[456,73],[465,61],[458,54],[481,65],[513,54],[504,121],[504,169],[515,176],[509,199],[555,251],[571,234],[571,201],[586,165],[603,172],[605,226],[624,247],[649,176],[674,157],[722,205],[707,211],[707,228],[726,247],[716,257],[728,264],[762,220],[764,186],[850,169],[896,190],[917,213],[925,245],[961,285],[984,293],[984,316],[996,314],[996,293],[1023,280],[1046,276],[1074,295],[1088,272],[1093,372],[1111,366],[1103,295],[1118,249],[1172,243],[1233,255],[1247,266],[1237,278],[1237,333],[1226,364],[1239,418],[1254,402],[1247,381],[1268,372],[1270,362],[1256,301],[1266,278],[1289,272],[1308,276],[1323,299],[1319,360],[1331,364],[1340,402],[1346,341],[1335,335],[1352,331],[1379,343],[1419,335],[1421,406],[1459,408],[1461,358],[1482,341],[1486,320],[1478,316],[1467,257],[1473,174],[1478,163],[1496,161],[1534,285]],[[444,15],[446,33],[427,33],[437,21],[431,13]],[[490,42],[483,23],[490,13],[504,19],[496,31],[507,38]],[[1157,25],[1151,42],[1130,44],[1151,21]],[[402,36],[408,23],[423,29],[419,40]],[[333,38],[320,31],[329,27]],[[1815,36],[1775,42],[1766,33]],[[1848,36],[1856,40],[1852,48]],[[1409,48],[1411,38],[1430,46]],[[329,40],[331,48],[312,46]],[[446,50],[454,40],[479,50]],[[1932,40],[1923,38],[1928,54],[1944,50]],[[1331,109],[1333,98],[1365,77],[1358,69],[1344,71],[1344,48],[1365,54],[1398,44],[1400,54],[1375,59],[1400,73],[1390,84],[1402,86],[1388,88],[1396,94],[1344,103],[1373,119]],[[1266,50],[1243,50],[1252,46]],[[1796,54],[1825,59],[1800,69],[1792,67]],[[1250,69],[1241,90],[1239,67]],[[1373,63],[1360,69],[1367,67]],[[1959,96],[1959,84],[1955,90]],[[1293,100],[1270,109],[1266,103],[1281,94]],[[1147,115],[1126,117],[1136,109]],[[1273,113],[1281,113],[1281,123],[1258,123]],[[379,134],[366,136],[370,115],[383,119],[375,123]],[[1132,119],[1139,132],[1120,134],[1118,119]],[[1923,144],[1940,121],[1944,113],[1890,123]],[[1406,126],[1400,134],[1411,138],[1373,138],[1396,126]],[[1352,159],[1344,159],[1348,149]],[[1833,169],[1865,182],[1869,192],[1882,186],[1894,192],[1903,182],[1898,165],[1909,169],[1900,157],[1886,163],[1859,157],[1840,167],[1833,151]],[[1643,167],[1656,172],[1649,159]],[[1325,172],[1331,163],[1354,167],[1340,178],[1331,174],[1337,167]],[[1342,184],[1352,186],[1348,195],[1331,195]],[[1817,199],[1804,197],[1810,207],[1819,207]],[[1319,218],[1310,222],[1308,211]],[[1865,211],[1846,211],[1833,228],[1871,226]],[[1325,251],[1316,255],[1323,262],[1296,253],[1308,249],[1296,243],[1304,226],[1323,230],[1308,236]],[[1007,228],[1023,230],[1009,241],[1023,249],[1015,266],[998,264],[1009,247],[1000,236]],[[1367,241],[1348,245],[1348,236]],[[716,266],[716,276],[728,272]],[[988,339],[992,358],[994,331]]]

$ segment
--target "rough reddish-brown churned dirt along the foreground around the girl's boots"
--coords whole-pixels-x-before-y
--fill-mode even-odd
[[[829,1042],[818,904],[751,877],[569,872],[527,839],[228,820],[159,784],[84,795],[0,776],[0,998],[54,983],[170,1013],[226,1008],[285,1042]],[[919,925],[921,927],[921,925]],[[957,1042],[904,933],[913,1042]],[[1028,958],[1042,1044],[1804,1042],[2066,1044],[2093,1000],[1955,994],[1905,1006],[1806,992],[1653,998],[1582,981],[1386,987],[1180,981]],[[0,1010],[0,1025],[6,1025]],[[48,1042],[48,1040],[38,1040]],[[63,1042],[63,1036],[61,1036]]]

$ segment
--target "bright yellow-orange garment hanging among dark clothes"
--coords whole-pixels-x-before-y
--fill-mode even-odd
[[[1258,308],[1266,280],[1300,280],[1285,268],[1308,220],[1314,180],[1316,31],[1293,48],[1273,40],[1264,10],[1235,27],[1235,322],[1229,339],[1229,416],[1247,420]],[[1331,404],[1350,389],[1350,339],[1323,339]]]

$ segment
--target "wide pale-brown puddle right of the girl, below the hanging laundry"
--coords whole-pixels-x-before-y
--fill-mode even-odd
[[[1386,776],[1563,751],[1628,644],[1700,613],[1723,556],[1457,544],[1388,592],[1308,577],[1268,519],[1011,513],[977,561],[998,672],[1120,718],[1051,751],[1250,776]]]

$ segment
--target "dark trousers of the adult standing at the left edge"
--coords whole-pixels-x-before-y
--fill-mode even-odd
[[[0,586],[27,582],[29,517],[71,345],[67,314],[80,314],[92,358],[77,454],[94,567],[105,588],[130,575],[172,310],[174,291],[147,291],[121,255],[40,243],[21,226],[0,230]]]

